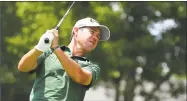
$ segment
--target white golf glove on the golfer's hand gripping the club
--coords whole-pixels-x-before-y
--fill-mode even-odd
[[[44,40],[48,38],[49,42],[45,43]],[[53,33],[51,30],[47,30],[41,37],[38,42],[38,44],[35,46],[35,48],[39,51],[44,52],[45,50],[49,49],[51,47],[52,41],[54,39]]]

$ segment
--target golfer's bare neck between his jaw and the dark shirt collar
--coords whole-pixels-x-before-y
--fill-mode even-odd
[[[77,42],[75,42],[74,39],[71,40],[68,47],[72,52],[72,56],[84,56],[85,54],[84,50],[81,48],[81,46]]]

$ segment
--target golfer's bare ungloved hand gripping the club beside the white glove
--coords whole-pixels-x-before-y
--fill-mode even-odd
[[[52,32],[53,32],[54,39],[52,41],[51,48],[54,48],[58,46],[59,35],[58,35],[58,30],[56,29],[52,29]]]

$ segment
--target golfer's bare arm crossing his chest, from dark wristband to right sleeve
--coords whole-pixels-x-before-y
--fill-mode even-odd
[[[90,84],[92,79],[92,73],[90,71],[82,69],[78,63],[67,56],[60,48],[57,48],[54,53],[73,81],[82,85]]]

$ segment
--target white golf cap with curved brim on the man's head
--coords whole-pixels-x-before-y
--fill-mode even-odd
[[[105,41],[110,38],[110,30],[108,29],[108,27],[105,25],[100,25],[98,21],[90,17],[80,19],[75,23],[74,27],[99,27],[100,41]]]

